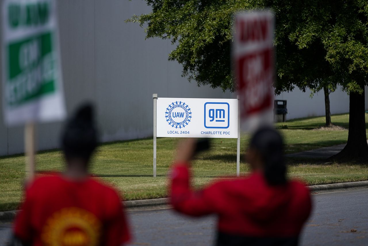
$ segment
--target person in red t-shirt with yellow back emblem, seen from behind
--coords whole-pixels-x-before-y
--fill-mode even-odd
[[[96,145],[92,107],[85,105],[62,135],[66,171],[38,177],[26,187],[15,219],[15,241],[36,246],[118,246],[130,239],[122,199],[88,174]]]

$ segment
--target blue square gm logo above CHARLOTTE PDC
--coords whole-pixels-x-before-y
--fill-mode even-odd
[[[205,128],[229,128],[229,111],[228,103],[205,103]]]

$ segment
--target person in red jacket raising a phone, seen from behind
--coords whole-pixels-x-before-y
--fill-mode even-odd
[[[282,138],[271,128],[255,133],[247,152],[252,173],[220,180],[203,190],[190,185],[195,142],[177,150],[171,173],[171,204],[183,214],[218,215],[217,245],[297,245],[311,212],[307,187],[286,179]]]

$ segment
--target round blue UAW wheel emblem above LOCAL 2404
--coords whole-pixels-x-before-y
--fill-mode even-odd
[[[166,108],[166,121],[174,128],[184,128],[192,118],[192,112],[187,104],[183,102],[174,102]]]

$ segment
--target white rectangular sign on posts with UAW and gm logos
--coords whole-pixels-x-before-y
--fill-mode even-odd
[[[157,136],[237,138],[238,100],[159,97]]]

